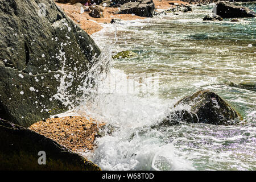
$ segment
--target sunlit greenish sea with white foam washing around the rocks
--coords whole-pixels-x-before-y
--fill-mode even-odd
[[[256,11],[255,3],[245,6]],[[131,50],[139,55],[112,61],[112,83],[107,79],[102,87],[109,89],[115,80],[115,89],[100,94],[94,103],[93,112],[116,128],[111,136],[97,140],[96,151],[86,154],[102,169],[256,169],[255,90],[232,85],[256,82],[256,18],[203,22],[212,7],[193,6],[192,13],[107,24],[93,34],[102,49],[111,46],[113,53]],[[141,90],[127,92],[127,79],[130,87]],[[180,125],[139,134],[142,127],[164,117],[179,98],[200,89],[225,98],[246,124]],[[133,133],[137,135],[131,139]]]

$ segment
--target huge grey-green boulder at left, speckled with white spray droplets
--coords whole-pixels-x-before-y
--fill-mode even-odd
[[[76,101],[101,52],[52,0],[0,7],[0,118],[27,127]]]

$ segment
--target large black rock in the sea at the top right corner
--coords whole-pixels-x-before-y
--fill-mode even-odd
[[[216,14],[220,15],[222,18],[253,18],[256,16],[253,10],[228,2],[217,3]]]

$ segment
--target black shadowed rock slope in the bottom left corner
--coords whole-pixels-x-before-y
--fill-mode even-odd
[[[9,121],[0,119],[0,133],[0,170],[100,170],[68,148]],[[46,152],[45,165],[38,164],[39,151]]]

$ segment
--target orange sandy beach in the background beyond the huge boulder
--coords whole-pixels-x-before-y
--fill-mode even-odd
[[[182,1],[167,1],[167,0],[153,0],[155,3],[156,11],[157,9],[160,10],[167,10],[174,5],[170,5],[170,3],[178,3],[179,5],[188,5],[187,2]],[[81,8],[69,5],[69,4],[62,4],[56,3],[61,9],[67,13],[67,15],[73,19],[79,26],[86,31],[89,35],[92,35],[94,32],[100,31],[102,26],[100,23],[110,23],[112,19],[122,19],[122,20],[133,20],[133,19],[144,19],[145,17],[132,15],[132,14],[114,14],[118,11],[118,7],[102,7],[103,11],[103,18],[93,18],[89,15],[89,12],[80,13]]]

